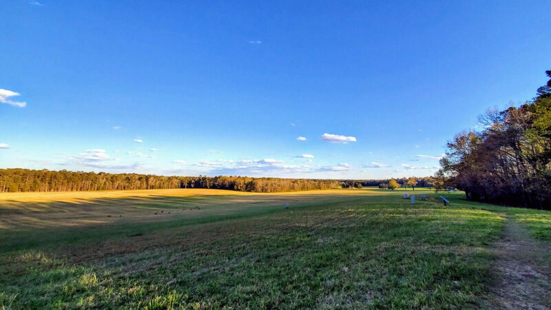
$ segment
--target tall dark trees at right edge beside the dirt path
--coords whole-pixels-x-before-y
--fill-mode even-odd
[[[491,110],[481,131],[464,131],[448,143],[437,178],[467,198],[551,209],[551,70],[537,96],[520,107]]]

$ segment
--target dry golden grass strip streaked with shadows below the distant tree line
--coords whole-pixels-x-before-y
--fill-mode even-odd
[[[378,189],[249,193],[221,189],[152,189],[0,195],[0,229],[149,222],[232,214],[243,209],[311,203]]]

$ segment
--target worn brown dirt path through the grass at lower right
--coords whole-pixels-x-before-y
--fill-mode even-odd
[[[491,309],[551,309],[551,249],[508,217],[493,250]]]

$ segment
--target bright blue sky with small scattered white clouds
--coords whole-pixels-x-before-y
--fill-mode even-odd
[[[267,2],[0,1],[0,167],[428,176],[551,69],[548,1]]]

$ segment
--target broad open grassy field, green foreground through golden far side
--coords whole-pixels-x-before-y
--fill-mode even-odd
[[[506,218],[551,240],[550,212],[402,193],[0,195],[0,307],[485,307]]]

